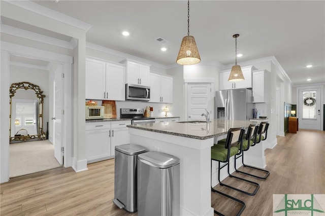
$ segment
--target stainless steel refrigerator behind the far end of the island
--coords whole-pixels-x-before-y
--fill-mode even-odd
[[[253,118],[254,107],[249,89],[215,92],[215,117],[218,119],[249,120]]]

